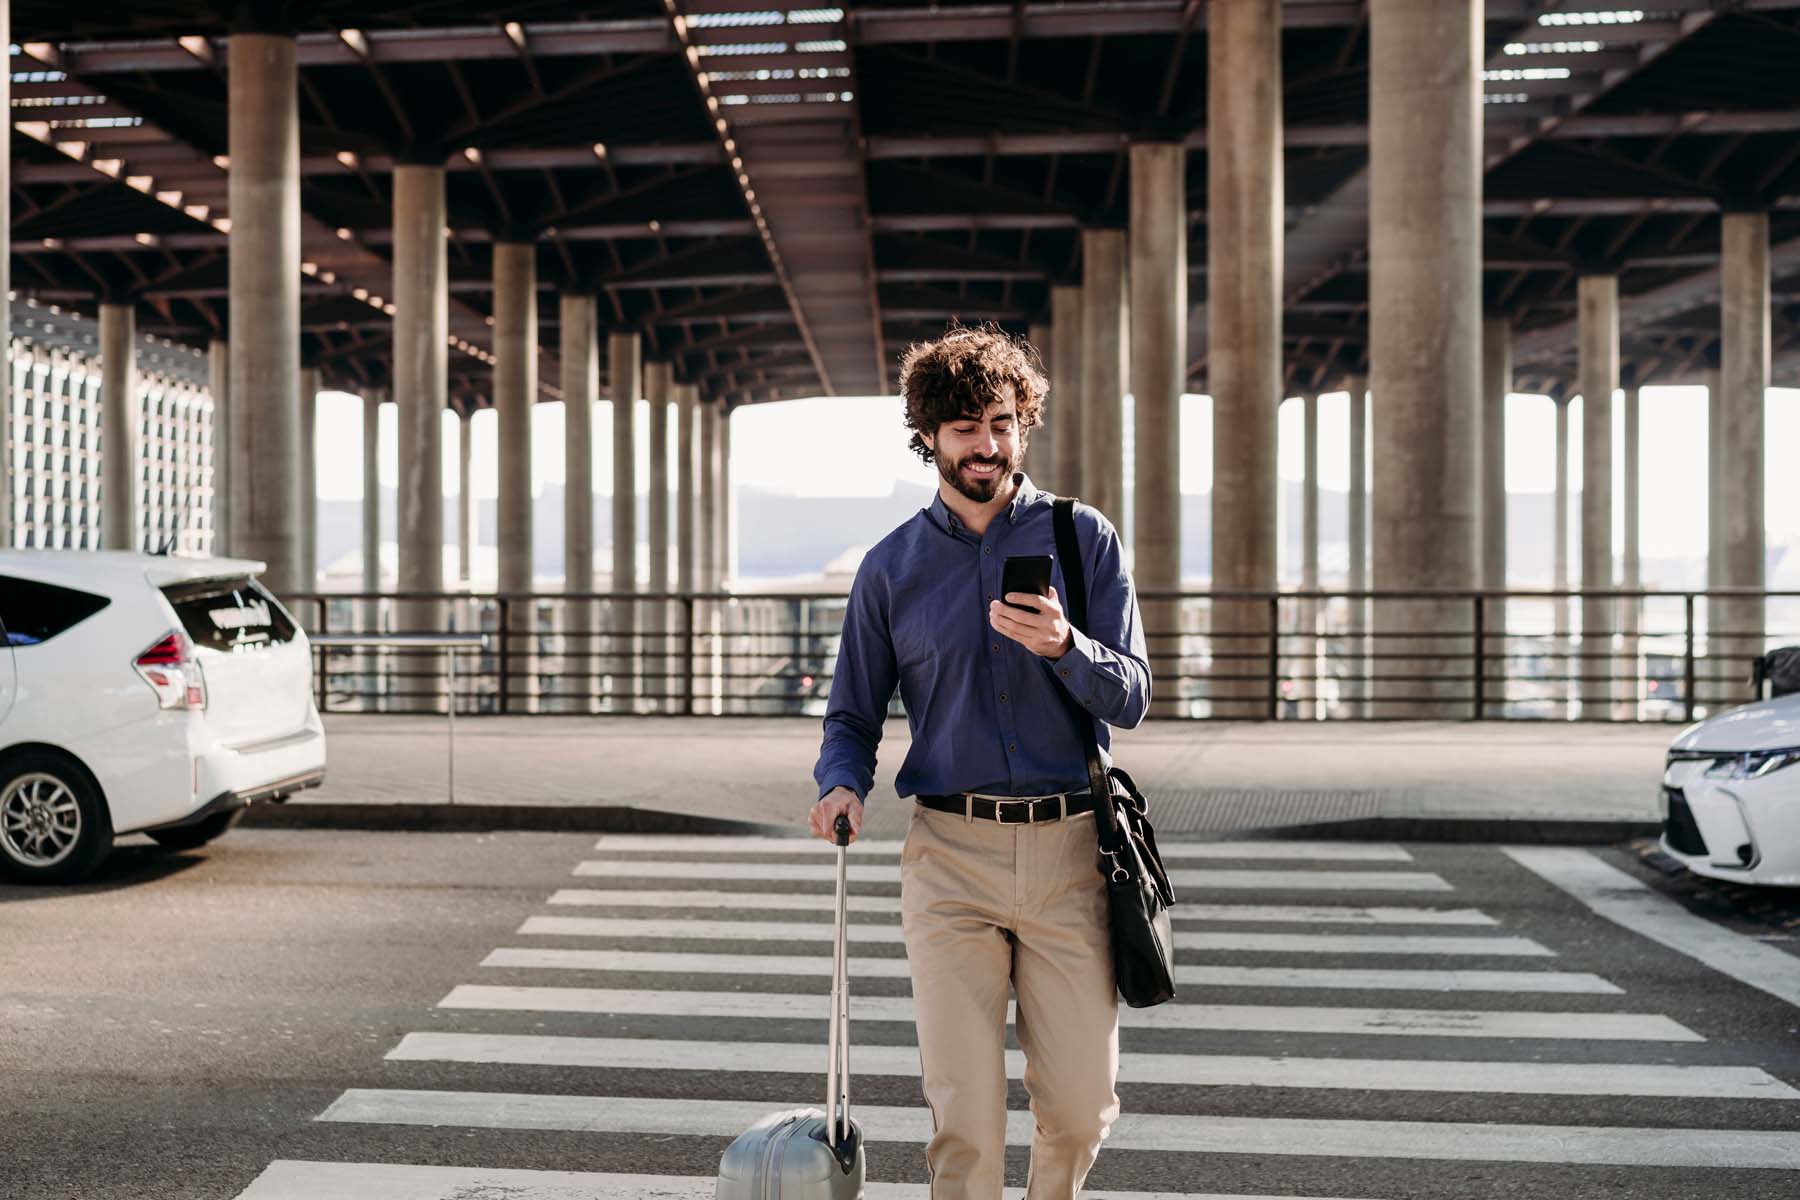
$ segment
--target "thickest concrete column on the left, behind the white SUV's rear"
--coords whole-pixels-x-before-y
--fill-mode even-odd
[[[230,394],[239,399],[245,558],[268,563],[277,596],[299,587],[301,126],[292,36],[232,34],[227,50],[230,155]],[[439,252],[443,230],[437,232]],[[439,338],[441,340],[441,338]]]

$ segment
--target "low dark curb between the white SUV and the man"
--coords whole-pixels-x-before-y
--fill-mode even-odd
[[[799,837],[785,826],[655,808],[596,804],[252,804],[245,829],[364,829],[434,833],[711,833]]]

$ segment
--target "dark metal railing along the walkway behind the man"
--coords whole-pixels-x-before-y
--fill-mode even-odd
[[[311,630],[486,633],[320,644],[329,712],[823,716],[846,596],[329,592]],[[1152,718],[1692,721],[1753,698],[1800,592],[1141,592]],[[898,694],[889,714],[904,709]]]

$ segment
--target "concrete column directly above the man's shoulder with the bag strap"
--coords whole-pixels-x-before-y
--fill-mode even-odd
[[[1082,230],[1082,498],[1125,527],[1125,230]]]

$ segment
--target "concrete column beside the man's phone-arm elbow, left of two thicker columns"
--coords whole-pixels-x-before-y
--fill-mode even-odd
[[[1188,151],[1130,148],[1132,574],[1139,592],[1181,588],[1181,392],[1188,380]],[[1145,601],[1152,671],[1183,657],[1181,603]],[[1161,658],[1159,655],[1170,655]],[[1150,716],[1179,716],[1165,685]]]

